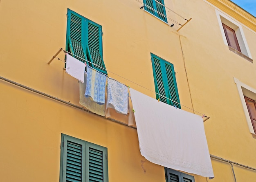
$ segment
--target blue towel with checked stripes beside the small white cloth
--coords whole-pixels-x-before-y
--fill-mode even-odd
[[[105,104],[106,79],[106,75],[87,65],[85,97],[99,105]]]

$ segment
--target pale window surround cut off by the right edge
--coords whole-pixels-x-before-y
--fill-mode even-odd
[[[249,131],[252,134],[255,134],[244,96],[247,96],[250,99],[256,100],[256,89],[254,89],[250,86],[247,86],[245,83],[239,81],[236,78],[234,78],[234,81],[236,83],[236,87],[238,89],[238,93],[239,93],[239,96],[240,96],[240,99],[241,99],[241,102],[242,102],[242,105],[243,105],[243,110],[245,112],[245,117],[246,117],[246,121],[247,121],[247,124],[248,124],[248,127],[249,127]]]

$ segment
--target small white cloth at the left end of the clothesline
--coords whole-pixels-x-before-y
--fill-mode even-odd
[[[78,59],[72,57],[69,54],[67,54],[66,62],[66,73],[83,83],[85,63],[79,61]]]

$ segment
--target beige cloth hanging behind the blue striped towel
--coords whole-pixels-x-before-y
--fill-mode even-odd
[[[99,105],[98,103],[92,101],[90,97],[85,97],[86,80],[87,72],[84,74],[84,83],[79,81],[79,103],[91,112],[105,116],[105,104]]]

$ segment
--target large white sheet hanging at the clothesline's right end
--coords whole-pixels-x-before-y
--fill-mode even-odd
[[[164,167],[213,178],[202,116],[130,88],[141,155]]]

